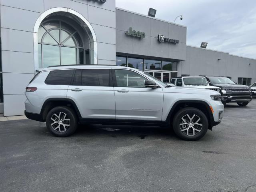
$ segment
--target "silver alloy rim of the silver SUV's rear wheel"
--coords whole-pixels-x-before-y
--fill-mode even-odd
[[[64,112],[54,113],[51,117],[51,127],[54,131],[65,132],[70,127],[70,119]]]

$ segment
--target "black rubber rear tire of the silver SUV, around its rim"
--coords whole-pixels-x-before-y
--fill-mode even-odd
[[[60,116],[60,118],[58,118],[55,114]],[[66,114],[65,118],[64,114]],[[53,124],[54,121],[52,119],[56,122],[55,124]],[[72,135],[76,131],[77,122],[78,121],[74,110],[66,106],[55,107],[50,110],[46,116],[46,127],[54,136],[57,137],[67,137]],[[69,126],[67,126],[68,124]],[[54,130],[54,128],[56,128],[56,130]]]

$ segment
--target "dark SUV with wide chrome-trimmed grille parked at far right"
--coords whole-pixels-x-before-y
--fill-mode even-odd
[[[208,77],[210,85],[217,86],[222,90],[222,103],[237,103],[246,106],[252,100],[252,91],[249,86],[238,85],[227,77]]]

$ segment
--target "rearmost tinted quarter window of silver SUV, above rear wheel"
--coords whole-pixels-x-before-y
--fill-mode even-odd
[[[45,83],[48,85],[71,85],[74,70],[56,70],[51,71],[47,76]]]

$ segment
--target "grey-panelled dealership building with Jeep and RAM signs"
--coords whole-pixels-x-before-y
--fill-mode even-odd
[[[255,59],[189,46],[186,36],[186,26],[116,8],[115,0],[1,0],[0,113],[23,115],[26,85],[52,65],[128,66],[163,82],[256,82]]]

